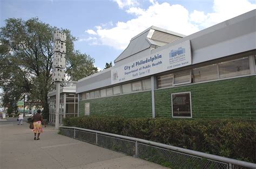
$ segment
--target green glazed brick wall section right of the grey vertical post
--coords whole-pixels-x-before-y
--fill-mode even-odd
[[[193,118],[256,121],[256,76],[155,90],[156,117],[172,117],[171,94],[191,91]]]

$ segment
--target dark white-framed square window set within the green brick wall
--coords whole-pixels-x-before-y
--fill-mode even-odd
[[[192,117],[190,92],[172,94],[172,117]]]

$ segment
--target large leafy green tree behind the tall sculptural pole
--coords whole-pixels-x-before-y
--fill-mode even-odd
[[[42,23],[38,18],[22,20],[9,18],[0,32],[0,75],[4,95],[17,98],[27,94],[30,99],[40,100],[44,115],[48,118],[48,93],[55,85],[51,82],[53,33],[57,30],[49,24]],[[71,79],[78,79],[79,69],[83,76],[97,72],[94,60],[75,51],[75,37],[69,30],[62,30],[67,35],[66,62],[67,73]],[[92,69],[92,71],[90,71]],[[79,77],[80,78],[80,77]]]

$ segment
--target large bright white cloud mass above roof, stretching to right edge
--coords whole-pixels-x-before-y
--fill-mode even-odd
[[[149,8],[142,9],[132,5],[137,1],[116,0],[115,2],[120,8],[122,5],[122,8],[130,6],[125,11],[133,15],[134,18],[127,22],[117,22],[113,24],[114,26],[110,25],[110,28],[106,28],[104,24],[95,26],[96,30],[93,32],[96,33],[97,40],[93,39],[91,44],[124,50],[132,37],[152,25],[188,35],[256,8],[256,4],[247,0],[215,0],[212,13],[197,10],[189,13],[182,5],[171,5],[166,2],[159,4],[155,0],[149,1],[151,3]]]

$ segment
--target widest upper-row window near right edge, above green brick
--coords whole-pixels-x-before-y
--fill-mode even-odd
[[[219,63],[220,78],[250,74],[249,60],[247,58]]]

